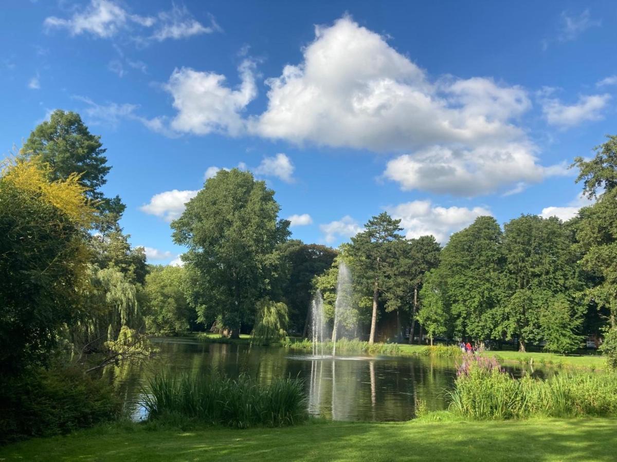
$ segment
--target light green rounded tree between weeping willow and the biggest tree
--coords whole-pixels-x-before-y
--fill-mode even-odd
[[[153,334],[178,335],[189,330],[196,312],[184,294],[186,270],[179,266],[155,266],[146,276],[143,312],[146,330]]]

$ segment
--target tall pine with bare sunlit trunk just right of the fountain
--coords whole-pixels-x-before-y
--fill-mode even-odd
[[[371,333],[369,344],[375,342],[377,309],[379,293],[387,285],[387,275],[395,265],[394,242],[402,240],[400,220],[392,219],[383,212],[372,217],[364,226],[364,231],[352,237],[349,254],[352,259],[354,278],[371,291],[373,295],[373,313],[371,315]]]

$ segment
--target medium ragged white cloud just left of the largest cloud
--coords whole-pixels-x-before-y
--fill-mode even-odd
[[[165,86],[178,110],[172,129],[196,135],[222,132],[238,136],[244,132],[241,113],[257,95],[254,67],[251,60],[242,62],[238,68],[242,83],[237,89],[225,86],[223,75],[176,68]]]

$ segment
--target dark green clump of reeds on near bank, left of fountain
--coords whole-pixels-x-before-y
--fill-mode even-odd
[[[260,386],[248,375],[231,379],[218,373],[185,374],[175,379],[159,374],[144,396],[149,420],[175,415],[176,420],[249,428],[292,425],[308,416],[302,381],[291,378]]]

